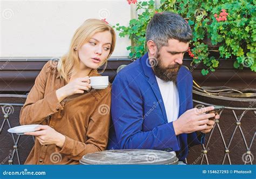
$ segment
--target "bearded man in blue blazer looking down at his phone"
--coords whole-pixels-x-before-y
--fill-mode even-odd
[[[188,146],[204,143],[219,115],[193,108],[193,78],[183,64],[192,31],[180,15],[156,13],[146,31],[148,52],[121,70],[112,84],[107,149],[154,149],[186,163]]]

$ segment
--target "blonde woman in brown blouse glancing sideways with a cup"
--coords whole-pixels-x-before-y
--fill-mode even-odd
[[[116,35],[103,20],[88,19],[75,32],[69,52],[48,61],[21,110],[21,125],[41,124],[25,164],[78,164],[83,155],[106,148],[111,86],[91,89],[91,76],[106,65]]]

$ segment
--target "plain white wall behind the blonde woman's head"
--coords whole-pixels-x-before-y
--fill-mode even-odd
[[[2,1],[0,57],[59,57],[70,45],[75,30],[87,18],[106,18],[127,26],[126,0]],[[126,57],[130,40],[117,36],[112,57]]]

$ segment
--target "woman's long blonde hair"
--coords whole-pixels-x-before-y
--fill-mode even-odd
[[[112,35],[109,57],[111,56],[114,46],[116,45],[116,33],[113,28],[110,25],[107,25],[104,20],[87,19],[73,35],[68,53],[59,60],[57,70],[61,79],[68,82],[71,74],[78,68],[80,61],[78,57],[78,49],[87,43],[95,33],[104,31],[109,31]],[[75,50],[75,48],[77,50]]]

